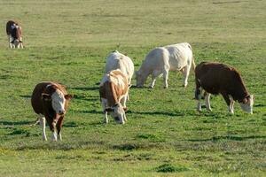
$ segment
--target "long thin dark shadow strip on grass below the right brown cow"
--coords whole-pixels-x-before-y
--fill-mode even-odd
[[[225,136],[213,136],[209,139],[189,139],[190,142],[217,142],[220,140],[233,140],[233,141],[245,141],[248,139],[265,139],[266,135],[250,135],[250,136],[235,136],[235,135],[225,135]]]

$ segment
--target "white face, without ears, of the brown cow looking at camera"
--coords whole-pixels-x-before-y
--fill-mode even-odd
[[[64,114],[65,113],[65,103],[66,98],[64,94],[57,89],[52,95],[51,95],[51,106],[55,112],[58,114]]]

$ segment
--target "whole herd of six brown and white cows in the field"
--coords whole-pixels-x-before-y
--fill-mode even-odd
[[[21,27],[14,21],[6,24],[6,33],[10,48],[23,48]],[[211,111],[210,95],[221,94],[230,113],[234,113],[233,104],[239,102],[243,111],[253,113],[254,96],[250,95],[241,79],[239,72],[221,63],[201,62],[195,65],[192,46],[187,43],[176,43],[151,50],[135,72],[136,86],[144,87],[148,76],[152,76],[150,88],[154,87],[156,78],[163,76],[164,88],[168,88],[168,72],[180,71],[184,75],[183,86],[188,85],[190,70],[195,73],[195,99],[198,100],[197,110],[201,112],[202,95],[206,108]],[[106,73],[99,84],[100,102],[104,113],[104,123],[108,123],[108,113],[121,124],[127,121],[126,106],[129,100],[129,89],[132,86],[134,64],[127,56],[115,50],[106,59]],[[48,123],[53,141],[62,140],[61,127],[67,106],[72,95],[67,94],[64,86],[47,81],[35,86],[31,104],[43,129],[43,141],[46,141],[45,124]]]

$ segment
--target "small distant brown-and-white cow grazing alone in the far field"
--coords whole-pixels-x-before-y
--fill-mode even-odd
[[[10,48],[23,49],[22,43],[22,28],[15,21],[8,21],[6,23],[6,35],[8,37]]]

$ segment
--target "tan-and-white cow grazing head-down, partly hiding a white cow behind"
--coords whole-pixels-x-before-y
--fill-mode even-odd
[[[121,70],[112,70],[106,73],[99,85],[100,101],[105,114],[104,123],[108,123],[107,112],[111,112],[113,119],[121,124],[127,120],[125,111],[129,84],[126,74]]]

